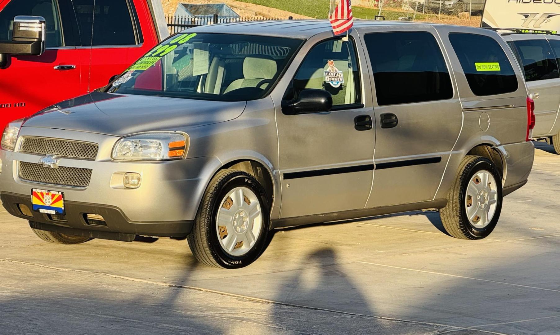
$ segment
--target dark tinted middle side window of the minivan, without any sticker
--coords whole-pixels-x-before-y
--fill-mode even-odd
[[[453,97],[444,56],[430,32],[376,32],[364,40],[380,106]]]

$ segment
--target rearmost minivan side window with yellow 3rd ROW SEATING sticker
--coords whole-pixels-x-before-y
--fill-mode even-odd
[[[496,95],[517,90],[514,68],[496,40],[490,36],[460,32],[449,34],[449,40],[475,95]]]

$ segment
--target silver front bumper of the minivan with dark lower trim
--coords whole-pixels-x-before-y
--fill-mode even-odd
[[[102,134],[22,127],[20,137],[23,136],[64,138],[99,144],[99,153],[95,161],[59,161],[60,166],[92,170],[90,183],[85,188],[22,180],[18,176],[19,162],[36,164],[44,155],[0,150],[0,192],[6,210],[30,221],[74,229],[151,236],[185,236],[190,231],[209,180],[221,166],[220,160],[214,156],[161,162],[113,161],[110,159],[110,153],[118,137]],[[123,172],[141,174],[141,186],[137,189],[115,187],[112,183],[114,174]],[[23,215],[17,204],[30,206],[32,188],[64,192],[67,222],[50,220],[42,213],[33,213],[33,217]],[[105,218],[107,226],[87,225],[83,213],[95,213],[104,218],[108,216]]]

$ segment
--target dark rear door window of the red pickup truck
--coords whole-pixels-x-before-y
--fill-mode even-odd
[[[134,45],[136,20],[127,0],[74,0],[81,45]]]

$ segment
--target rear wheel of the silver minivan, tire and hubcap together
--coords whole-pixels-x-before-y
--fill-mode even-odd
[[[482,156],[466,156],[447,195],[440,217],[447,234],[478,240],[490,235],[502,211],[502,177]]]

